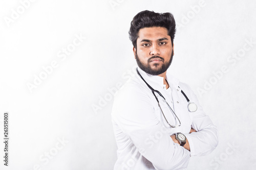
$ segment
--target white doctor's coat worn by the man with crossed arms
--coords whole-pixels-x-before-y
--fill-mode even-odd
[[[181,126],[171,128],[166,123],[151,89],[135,74],[115,94],[112,122],[118,159],[114,169],[186,169],[190,156],[212,152],[218,144],[217,129],[194,92],[169,75],[168,71],[166,80],[169,88],[166,89],[162,77],[146,74],[140,68],[138,70],[150,86],[161,92],[179,117]],[[181,90],[190,102],[197,104],[196,112],[188,111],[188,102]],[[170,110],[167,107],[162,109],[168,122],[175,125],[175,117]],[[189,134],[191,127],[197,132]],[[173,142],[170,135],[177,132],[188,139],[190,152]]]

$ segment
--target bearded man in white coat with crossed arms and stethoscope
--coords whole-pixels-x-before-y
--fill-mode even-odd
[[[174,56],[175,26],[172,14],[153,11],[142,11],[131,22],[139,67],[115,95],[114,169],[186,169],[190,156],[217,147],[217,129],[196,95],[167,72]]]

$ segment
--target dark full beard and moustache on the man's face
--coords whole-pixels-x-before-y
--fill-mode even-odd
[[[170,64],[172,63],[173,61],[173,56],[174,56],[174,51],[172,50],[172,55],[170,55],[170,60],[167,61],[167,62],[164,62],[164,59],[162,57],[159,57],[159,56],[152,56],[151,58],[149,58],[147,60],[147,63],[142,63],[137,55],[137,51],[136,51],[136,54],[135,54],[135,58],[136,58],[136,61],[137,61],[137,64],[138,66],[140,67],[140,69],[142,69],[143,71],[145,71],[147,74],[150,74],[150,75],[153,75],[153,76],[157,76],[157,75],[160,75],[162,74],[163,72],[165,72]],[[153,58],[159,58],[163,61],[163,64],[161,66],[160,63],[154,63],[153,66],[156,67],[156,69],[153,69],[150,65],[150,60],[153,59]]]

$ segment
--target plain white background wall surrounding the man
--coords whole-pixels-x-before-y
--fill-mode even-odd
[[[127,81],[136,65],[128,31],[146,9],[174,15],[179,27],[169,71],[194,89],[219,130],[216,150],[191,157],[188,169],[254,169],[255,1],[31,0],[26,9],[20,7],[24,1],[0,2],[0,169],[113,169],[110,89]],[[86,39],[59,58],[76,35]],[[30,91],[28,83],[52,61],[58,66]],[[220,74],[223,66],[228,71]],[[6,111],[8,167],[2,142]],[[68,142],[58,143],[63,139]]]

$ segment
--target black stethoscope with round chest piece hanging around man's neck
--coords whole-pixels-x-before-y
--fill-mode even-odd
[[[161,112],[162,112],[162,114],[163,114],[163,116],[164,116],[164,118],[165,118],[167,124],[168,124],[170,127],[172,127],[172,128],[179,127],[179,126],[181,125],[180,119],[179,119],[179,117],[175,114],[175,112],[173,111],[173,109],[169,106],[169,104],[166,102],[164,96],[163,96],[158,90],[155,90],[154,88],[152,88],[152,87],[143,79],[143,77],[142,77],[142,76],[140,75],[140,73],[139,73],[138,68],[136,68],[136,70],[137,70],[137,73],[138,73],[138,75],[140,76],[140,78],[146,83],[147,87],[150,88],[151,91],[152,91],[152,93],[154,94],[154,96],[155,96],[155,98],[156,98],[156,100],[157,100],[158,106],[159,106],[159,108],[160,108],[160,110],[161,110]],[[179,88],[180,88],[180,87],[179,87]],[[160,104],[159,104],[159,100],[157,99],[157,96],[156,96],[155,92],[157,92],[157,93],[164,99],[164,102],[167,104],[168,108],[173,112],[173,114],[175,115],[175,117],[177,117],[177,119],[178,119],[178,121],[179,121],[179,124],[176,124],[175,126],[172,126],[172,125],[169,124],[169,122],[168,122],[168,120],[166,119],[166,117],[165,117],[165,115],[164,115],[164,113],[163,113],[163,110],[162,110],[162,108],[161,108],[161,106],[160,106]],[[186,100],[187,100],[187,102],[188,102],[188,104],[187,104],[187,109],[188,109],[188,111],[189,111],[189,112],[195,112],[195,111],[197,111],[197,105],[196,105],[195,103],[191,103],[191,102],[189,101],[189,99],[187,98],[187,95],[186,95],[182,90],[181,90],[181,93],[184,95],[184,97],[186,98]],[[175,118],[175,119],[176,119],[176,118]]]

